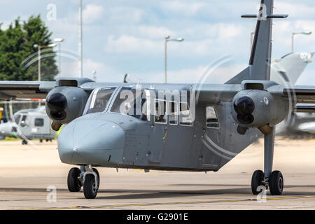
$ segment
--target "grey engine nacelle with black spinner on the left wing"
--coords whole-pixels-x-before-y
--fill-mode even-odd
[[[68,124],[82,116],[87,98],[80,87],[55,87],[46,97],[46,113],[55,123]]]

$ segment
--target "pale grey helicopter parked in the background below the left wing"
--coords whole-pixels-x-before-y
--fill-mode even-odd
[[[16,112],[12,120],[0,124],[0,136],[18,137],[22,139],[22,144],[27,144],[31,139],[55,139],[57,134],[50,127],[50,118],[45,113],[45,106],[41,106]]]

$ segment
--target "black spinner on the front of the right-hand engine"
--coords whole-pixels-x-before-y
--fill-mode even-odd
[[[251,115],[255,109],[253,99],[249,97],[241,97],[234,102],[233,106],[237,112],[237,120],[239,120],[240,123],[246,125],[253,123],[254,118]]]

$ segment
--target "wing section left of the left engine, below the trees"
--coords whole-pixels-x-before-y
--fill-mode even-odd
[[[0,99],[44,99],[55,86],[55,81],[0,81]]]

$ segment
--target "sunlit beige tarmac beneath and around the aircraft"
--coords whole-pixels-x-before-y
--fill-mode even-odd
[[[97,198],[70,193],[57,142],[0,141],[0,209],[315,209],[315,141],[276,139],[274,170],[283,195],[252,195],[251,175],[263,169],[263,141],[246,148],[218,172],[145,173],[98,168]]]

